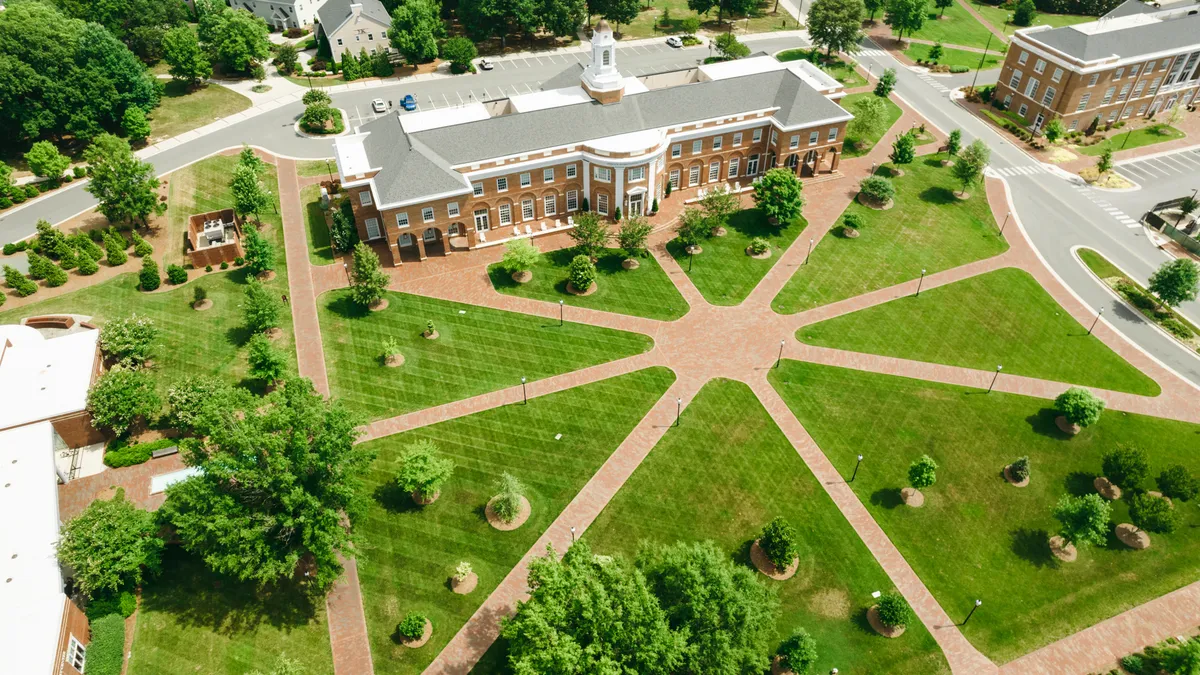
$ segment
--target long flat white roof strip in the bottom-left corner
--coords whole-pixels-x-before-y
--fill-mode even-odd
[[[0,431],[0,485],[5,485],[0,488],[0,516],[5,519],[0,526],[4,670],[55,673],[66,596],[54,555],[59,486],[49,422]]]

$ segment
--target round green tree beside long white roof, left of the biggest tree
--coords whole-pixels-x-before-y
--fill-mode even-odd
[[[125,500],[96,500],[62,527],[59,562],[74,572],[76,584],[89,597],[115,593],[142,584],[158,572],[163,540],[154,514]]]

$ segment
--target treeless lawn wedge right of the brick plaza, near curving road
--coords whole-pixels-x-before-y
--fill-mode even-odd
[[[810,345],[1130,392],[1158,384],[1087,334],[1021,269],[1006,268],[802,328]]]

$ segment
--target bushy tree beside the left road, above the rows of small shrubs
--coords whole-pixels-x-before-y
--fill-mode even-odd
[[[130,144],[110,133],[101,133],[84,150],[91,165],[91,180],[84,190],[100,202],[100,213],[109,222],[142,221],[162,215],[167,204],[158,201],[158,179],[154,166],[138,160]]]

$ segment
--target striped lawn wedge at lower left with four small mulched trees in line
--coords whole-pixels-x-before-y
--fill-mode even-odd
[[[376,673],[415,674],[428,665],[673,381],[670,370],[653,368],[373,441],[373,498],[354,526],[364,542],[359,580]],[[400,454],[421,438],[456,465],[427,507],[392,482]],[[511,532],[493,530],[482,516],[505,471],[527,485],[533,507]],[[448,584],[460,561],[479,575],[467,596]],[[433,622],[432,639],[416,650],[392,640],[409,611]]]

